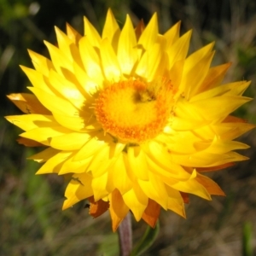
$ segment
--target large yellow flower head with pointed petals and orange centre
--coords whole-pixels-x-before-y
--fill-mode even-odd
[[[33,94],[9,96],[26,113],[7,117],[20,143],[47,147],[31,157],[44,163],[37,174],[69,178],[63,209],[88,199],[116,230],[129,210],[154,226],[160,207],[185,217],[189,194],[224,195],[201,173],[247,159],[234,139],[254,125],[230,113],[250,82],[220,85],[230,63],[210,67],[213,44],[187,57],[191,32],[180,37],[178,22],[161,35],[156,14],[136,29],[127,15],[120,30],[109,10],[102,37],[84,26],[55,28],[51,61],[30,50]]]

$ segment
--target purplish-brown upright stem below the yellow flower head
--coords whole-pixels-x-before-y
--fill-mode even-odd
[[[128,212],[126,217],[119,225],[119,248],[120,256],[129,256],[132,249],[132,230],[131,230],[131,213]]]

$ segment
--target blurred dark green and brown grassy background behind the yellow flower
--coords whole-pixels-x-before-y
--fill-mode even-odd
[[[216,41],[212,65],[232,61],[225,81],[253,80],[256,90],[256,1],[254,0],[0,0],[0,255],[118,255],[118,237],[108,212],[92,219],[84,202],[61,211],[66,184],[55,175],[34,176],[39,165],[26,160],[33,148],[15,142],[20,130],[4,115],[19,114],[6,94],[26,91],[29,81],[19,65],[32,67],[26,49],[48,55],[43,40],[55,44],[54,26],[66,22],[83,32],[83,16],[101,31],[110,7],[122,27],[125,15],[136,25],[158,12],[160,32],[182,20],[193,29],[190,52]],[[236,114],[256,123],[256,104]],[[255,131],[241,137],[251,159],[211,173],[225,198],[204,201],[190,196],[187,219],[162,210],[160,235],[143,255],[256,255]],[[133,220],[134,242],[146,224]]]

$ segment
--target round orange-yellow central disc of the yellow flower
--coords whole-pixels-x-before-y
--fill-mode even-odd
[[[127,143],[143,143],[163,131],[172,106],[171,82],[128,80],[102,90],[95,113],[105,132]]]

